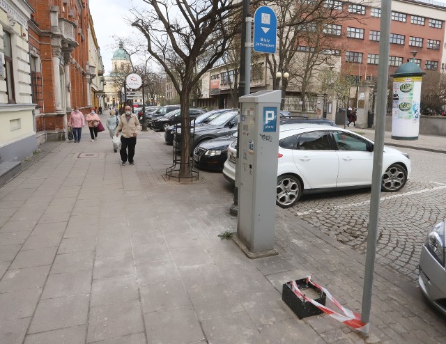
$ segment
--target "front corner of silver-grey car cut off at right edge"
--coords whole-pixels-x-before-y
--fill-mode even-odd
[[[445,221],[427,233],[418,265],[418,283],[424,296],[446,315]]]

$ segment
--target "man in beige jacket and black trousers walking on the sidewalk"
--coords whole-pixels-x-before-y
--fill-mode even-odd
[[[121,154],[122,165],[127,163],[134,165],[134,147],[137,145],[137,134],[139,132],[138,116],[132,113],[130,106],[125,106],[125,113],[121,116],[116,127],[116,136],[121,132]],[[128,151],[128,152],[127,152]]]

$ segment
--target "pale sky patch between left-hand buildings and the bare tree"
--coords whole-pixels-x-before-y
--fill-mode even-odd
[[[116,47],[113,36],[128,37],[138,31],[125,22],[129,10],[135,6],[142,6],[140,0],[90,0],[90,12],[100,47],[105,75],[112,70],[112,57]]]

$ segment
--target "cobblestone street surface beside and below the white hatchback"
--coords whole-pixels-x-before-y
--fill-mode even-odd
[[[446,155],[400,148],[410,154],[412,174],[395,194],[381,193],[378,262],[418,278],[417,265],[428,230],[446,217]],[[289,210],[360,253],[367,248],[370,189],[309,195]]]

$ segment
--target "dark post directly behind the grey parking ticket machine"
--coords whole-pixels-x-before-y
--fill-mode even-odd
[[[245,20],[247,18],[247,15],[249,13],[249,0],[243,0],[242,3],[242,18],[243,20]],[[239,68],[239,73],[238,73],[238,97],[242,97],[243,95],[245,95],[245,70],[246,70],[246,65],[245,65],[245,49],[243,49],[243,47],[245,47],[245,42],[247,42],[246,40],[246,25],[243,25],[242,23],[242,35],[241,35],[241,43],[240,43],[240,47],[242,48],[240,51],[240,68]],[[249,40],[251,40],[251,38],[249,38]],[[240,105],[239,105],[240,107]],[[233,204],[231,205],[231,208],[229,208],[229,212],[232,215],[237,215],[238,214],[238,178],[237,178],[237,171],[240,171],[240,167],[239,167],[239,163],[238,163],[238,157],[239,157],[239,149],[238,146],[240,144],[240,120],[238,121],[238,127],[237,127],[237,154],[236,154],[236,182],[235,182],[235,186],[234,186],[234,196],[233,196]]]

